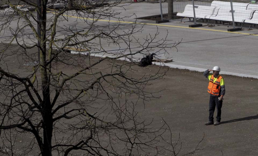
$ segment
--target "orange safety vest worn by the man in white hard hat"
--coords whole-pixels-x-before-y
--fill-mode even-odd
[[[212,75],[210,78],[210,82],[208,85],[208,93],[212,95],[219,95],[220,94],[220,80],[222,79],[222,76],[219,76],[215,82],[214,76]]]

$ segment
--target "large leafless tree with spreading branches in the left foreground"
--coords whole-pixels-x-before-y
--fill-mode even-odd
[[[158,98],[144,88],[166,71],[137,76],[135,56],[165,54],[178,43],[171,44],[166,36],[158,39],[158,31],[137,38],[142,27],[123,23],[127,17],[113,10],[123,8],[120,1],[48,10],[52,3],[2,1],[10,8],[1,11],[0,18],[5,39],[0,58],[0,153],[162,154],[157,143],[166,125],[152,130],[151,121],[140,120],[136,108]],[[121,22],[100,23],[103,19]],[[110,47],[116,50],[110,52]],[[21,137],[26,138],[19,143]]]

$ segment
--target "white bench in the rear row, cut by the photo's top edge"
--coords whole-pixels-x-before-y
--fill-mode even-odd
[[[232,2],[232,5],[233,5],[233,10],[237,10],[237,9],[245,9],[246,10],[249,3]],[[231,10],[230,2],[212,1],[211,6],[227,8],[228,10]],[[225,9],[225,10],[227,10],[227,9]]]

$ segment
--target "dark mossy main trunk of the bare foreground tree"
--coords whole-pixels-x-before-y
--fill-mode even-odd
[[[52,108],[50,101],[50,76],[48,72],[51,72],[46,62],[46,0],[42,1],[41,14],[38,19],[40,22],[40,74],[42,83],[42,96],[43,101],[41,103],[41,115],[43,119],[43,146],[42,146],[42,156],[52,155],[52,131],[53,131],[53,117]]]

